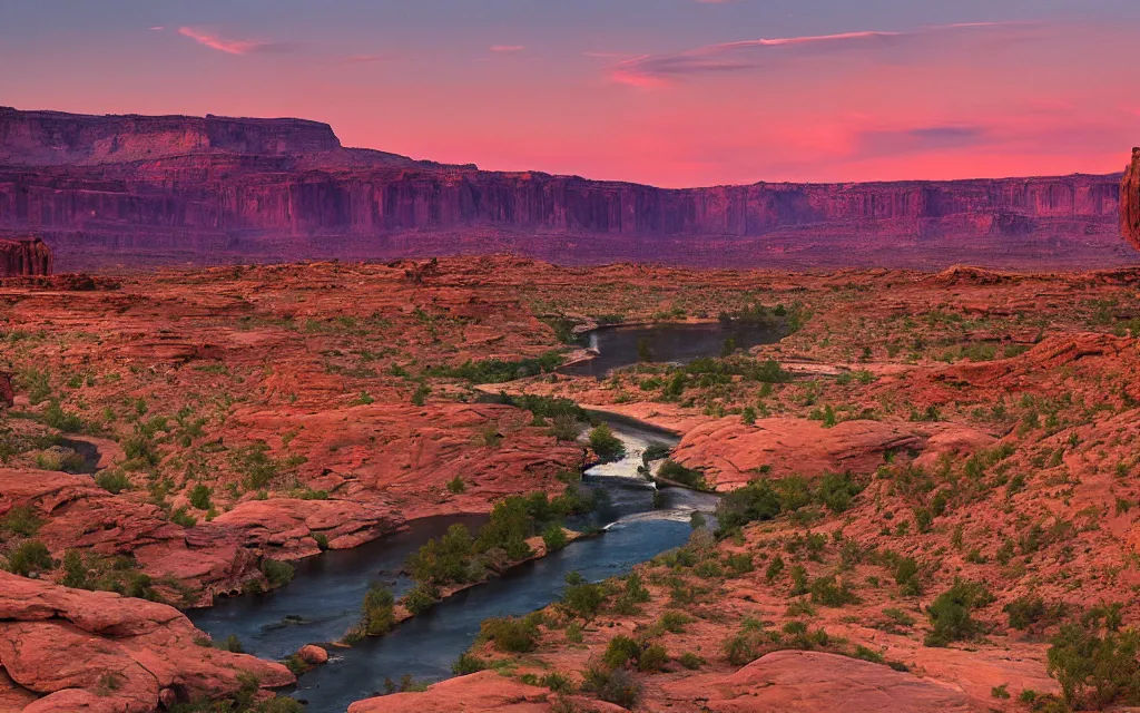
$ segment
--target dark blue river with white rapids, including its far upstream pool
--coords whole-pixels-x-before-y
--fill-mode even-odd
[[[581,363],[593,366],[571,368],[601,376],[611,368],[635,363],[637,345],[643,339],[648,340],[642,343],[648,345],[654,359],[685,362],[719,354],[728,338],[747,347],[774,341],[779,335],[769,330],[719,323],[603,329],[591,335],[601,356]],[[583,475],[583,485],[601,494],[602,504],[591,515],[567,522],[571,528],[602,526],[603,535],[579,540],[564,550],[461,592],[386,637],[367,639],[350,649],[329,648],[329,663],[302,675],[292,691],[308,704],[306,710],[343,713],[353,700],[383,692],[385,679],[448,678],[453,675],[451,663],[474,641],[484,618],[520,616],[556,601],[569,573],[577,572],[589,581],[619,576],[684,544],[691,534],[692,512],[711,511],[716,496],[665,488],[654,508],[657,489],[637,473],[637,467],[645,448],[652,444],[671,447],[676,437],[627,420],[604,415],[603,419],[625,444],[626,455]],[[220,599],[212,608],[192,611],[189,616],[214,640],[236,634],[246,653],[266,658],[284,658],[306,643],[327,645],[358,621],[360,602],[373,582],[386,584],[399,597],[412,586],[399,573],[410,552],[455,522],[464,522],[474,530],[484,519],[456,516],[417,520],[406,532],[300,562],[293,581],[277,591]]]

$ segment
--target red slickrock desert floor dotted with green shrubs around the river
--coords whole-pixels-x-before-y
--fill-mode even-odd
[[[564,398],[676,431],[660,475],[723,494],[712,529],[694,518],[686,546],[636,575],[575,582],[537,614],[486,624],[456,665],[473,675],[356,711],[1129,704],[1138,285],[1123,268],[788,274],[505,257],[7,281],[0,554],[13,574],[0,607],[27,589],[193,639],[146,600],[207,606],[423,516],[561,493],[591,457],[543,415]],[[557,371],[584,354],[581,327],[719,319],[785,335],[686,365],[644,355],[600,380]],[[488,403],[500,390],[531,399]],[[152,657],[139,651],[168,639],[67,611],[0,613],[18,633],[0,639],[59,627],[51,641],[89,657],[83,671],[121,671],[120,688],[72,675],[51,647],[7,643],[0,704],[78,696],[133,711],[164,688],[238,695],[178,689],[213,649]],[[249,662],[217,655],[211,666]],[[225,678],[209,671],[194,680]],[[285,680],[259,671],[262,686]]]

